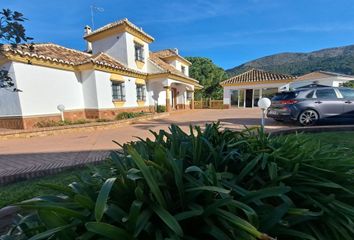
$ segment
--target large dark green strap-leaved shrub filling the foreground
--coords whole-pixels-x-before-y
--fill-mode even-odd
[[[330,239],[354,237],[345,149],[304,135],[217,124],[125,144],[111,171],[24,201],[15,239]],[[22,237],[22,238],[21,238]]]

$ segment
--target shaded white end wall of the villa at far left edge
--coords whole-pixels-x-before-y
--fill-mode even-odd
[[[8,71],[13,83],[17,85],[12,62],[0,66],[0,69]],[[21,93],[0,88],[0,117],[21,116],[22,111],[19,94]]]

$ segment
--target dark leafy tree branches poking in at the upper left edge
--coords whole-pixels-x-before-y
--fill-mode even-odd
[[[17,48],[18,44],[32,40],[26,35],[26,30],[22,25],[25,20],[27,19],[22,13],[10,9],[3,9],[0,12],[0,54],[4,44],[10,44],[10,47]],[[18,91],[14,85],[8,71],[0,69],[0,89]]]

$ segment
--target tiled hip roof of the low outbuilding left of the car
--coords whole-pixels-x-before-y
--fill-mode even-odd
[[[221,85],[227,84],[254,84],[259,82],[274,82],[274,81],[282,81],[282,80],[294,80],[295,77],[287,74],[280,74],[280,73],[272,73],[267,72],[259,69],[252,69],[247,72],[244,72],[240,75],[234,76],[229,78],[223,82]]]

